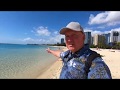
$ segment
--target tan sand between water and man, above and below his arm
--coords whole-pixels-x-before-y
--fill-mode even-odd
[[[61,51],[66,51],[66,47],[64,46],[52,46],[52,47],[58,47]],[[59,79],[60,71],[62,69],[62,60],[61,58],[58,58],[55,62],[53,62],[51,65],[46,67],[44,70],[42,70],[37,77],[37,79]]]

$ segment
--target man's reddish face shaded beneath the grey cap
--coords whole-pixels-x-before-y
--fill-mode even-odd
[[[66,46],[73,53],[84,45],[85,35],[82,32],[68,30],[65,32]]]

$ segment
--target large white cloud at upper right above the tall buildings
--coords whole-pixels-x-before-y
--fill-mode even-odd
[[[106,11],[96,16],[91,14],[88,24],[107,24],[109,26],[120,24],[120,11]]]

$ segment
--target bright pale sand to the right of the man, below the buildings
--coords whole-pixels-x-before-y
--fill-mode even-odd
[[[120,79],[120,51],[109,50],[109,49],[100,49],[95,51],[97,51],[98,53],[104,56],[102,58],[110,68],[112,78]]]

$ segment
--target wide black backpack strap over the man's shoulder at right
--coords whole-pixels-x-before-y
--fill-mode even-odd
[[[98,54],[95,51],[91,51],[91,54],[88,56],[87,61],[85,62],[85,72],[88,75],[88,72],[90,71],[89,68],[92,64],[92,61],[97,58],[97,57],[101,57],[100,54]]]

